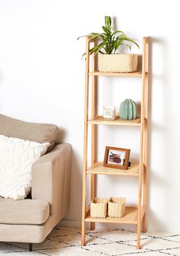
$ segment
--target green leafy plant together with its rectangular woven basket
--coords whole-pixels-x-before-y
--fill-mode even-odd
[[[126,42],[136,44],[136,46],[139,48],[136,41],[127,38],[123,31],[112,31],[110,16],[105,16],[105,26],[102,28],[103,33],[90,33],[83,36],[88,36],[90,40],[100,38],[97,46],[90,49],[90,54],[98,54],[98,70],[101,72],[136,71],[138,61],[137,54],[116,53],[116,51],[119,50],[122,45],[126,45],[131,50],[131,45],[126,44]]]

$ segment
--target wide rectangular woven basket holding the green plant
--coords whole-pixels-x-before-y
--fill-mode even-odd
[[[100,72],[135,72],[137,64],[137,54],[98,54]]]

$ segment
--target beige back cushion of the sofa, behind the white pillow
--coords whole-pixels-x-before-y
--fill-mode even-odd
[[[50,150],[57,139],[58,128],[48,123],[28,123],[0,114],[0,134],[12,138],[50,143]]]

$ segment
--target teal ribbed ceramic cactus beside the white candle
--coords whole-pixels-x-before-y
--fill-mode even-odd
[[[126,99],[120,104],[119,117],[123,120],[135,120],[137,107],[133,100]]]

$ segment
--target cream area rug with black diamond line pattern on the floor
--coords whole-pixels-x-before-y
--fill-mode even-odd
[[[142,234],[142,249],[136,249],[136,233],[119,229],[87,231],[87,246],[80,246],[80,229],[55,228],[47,239],[33,245],[28,251],[27,244],[0,243],[0,255],[62,255],[62,256],[120,256],[180,255],[180,235],[167,233]]]

